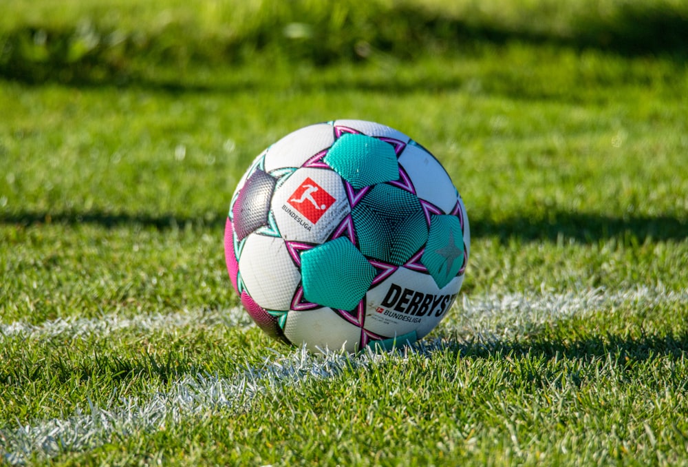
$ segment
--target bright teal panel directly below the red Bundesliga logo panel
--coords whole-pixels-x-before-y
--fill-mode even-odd
[[[375,273],[361,251],[345,237],[301,253],[303,296],[323,307],[354,309],[365,296]]]

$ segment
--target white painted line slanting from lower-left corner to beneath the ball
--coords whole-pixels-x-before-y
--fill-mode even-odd
[[[279,354],[278,354],[279,355]],[[355,360],[341,353],[325,357],[309,355],[305,348],[261,367],[248,367],[232,378],[212,375],[186,376],[169,393],[155,393],[147,402],[125,400],[119,408],[91,404],[88,415],[50,419],[35,425],[0,431],[0,451],[10,464],[24,464],[37,455],[43,459],[65,451],[84,451],[100,446],[115,434],[128,437],[178,424],[185,417],[216,408],[246,408],[258,394],[312,377],[331,377],[350,366],[367,365],[382,355],[362,355]]]

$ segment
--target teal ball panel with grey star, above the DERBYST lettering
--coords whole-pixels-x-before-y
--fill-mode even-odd
[[[455,278],[464,262],[464,236],[458,217],[431,217],[428,242],[420,262],[440,288]]]

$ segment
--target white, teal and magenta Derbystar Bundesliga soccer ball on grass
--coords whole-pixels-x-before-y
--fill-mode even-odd
[[[314,352],[427,335],[461,289],[470,244],[463,201],[438,160],[359,120],[301,128],[259,154],[224,232],[251,318]]]

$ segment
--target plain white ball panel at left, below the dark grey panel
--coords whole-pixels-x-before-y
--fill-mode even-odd
[[[288,310],[301,281],[284,240],[259,234],[246,238],[239,272],[248,295],[269,310]]]

